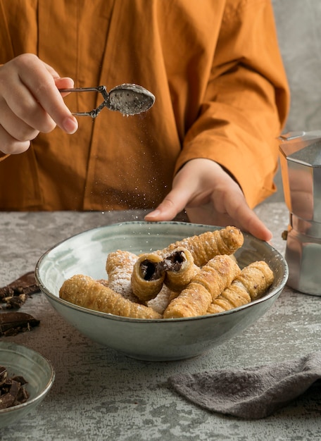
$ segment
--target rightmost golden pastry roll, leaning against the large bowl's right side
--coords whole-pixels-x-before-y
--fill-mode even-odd
[[[263,295],[272,285],[274,274],[264,261],[250,263],[217,299],[208,306],[208,314],[215,314],[248,304]]]

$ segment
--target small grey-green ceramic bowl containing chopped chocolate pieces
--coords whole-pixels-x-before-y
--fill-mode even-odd
[[[29,398],[23,404],[0,410],[0,428],[18,423],[34,410],[49,392],[55,378],[51,362],[41,354],[13,342],[0,342],[0,366],[8,375],[22,375],[27,381],[24,386]]]

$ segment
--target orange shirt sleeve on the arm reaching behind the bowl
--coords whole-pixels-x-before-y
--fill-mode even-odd
[[[288,111],[289,87],[270,1],[230,6],[199,118],[184,139],[176,172],[191,159],[216,161],[239,182],[253,208],[275,190],[277,137]]]

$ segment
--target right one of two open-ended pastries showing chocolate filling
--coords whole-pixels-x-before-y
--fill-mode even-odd
[[[177,247],[164,257],[165,285],[170,290],[180,292],[187,287],[191,278],[199,272],[199,266],[194,263],[191,251]]]

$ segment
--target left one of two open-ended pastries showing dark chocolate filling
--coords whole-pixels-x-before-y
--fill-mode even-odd
[[[132,271],[132,292],[141,302],[147,302],[160,292],[164,279],[163,257],[156,253],[141,254]]]

